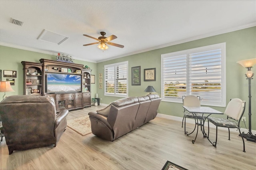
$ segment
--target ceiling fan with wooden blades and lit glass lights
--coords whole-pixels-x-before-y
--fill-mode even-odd
[[[106,38],[106,37],[104,37],[104,36],[106,35],[106,32],[100,32],[100,34],[101,34],[102,36],[100,36],[99,38],[94,38],[94,37],[92,37],[92,36],[88,36],[88,35],[86,35],[86,34],[83,34],[83,35],[86,36],[86,37],[89,37],[89,38],[92,38],[92,39],[94,39],[94,40],[99,41],[99,42],[95,42],[95,43],[84,44],[84,46],[93,45],[93,44],[99,43],[99,45],[98,45],[98,48],[99,48],[99,49],[108,49],[107,44],[108,44],[108,45],[113,45],[113,46],[116,46],[116,47],[120,47],[120,48],[123,48],[123,47],[124,47],[124,45],[120,45],[120,44],[117,44],[117,43],[112,43],[112,42],[110,42],[111,40],[116,39],[117,36],[112,35],[112,36],[109,36],[108,38]]]

